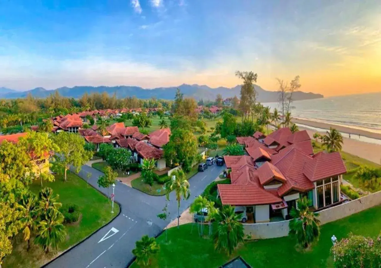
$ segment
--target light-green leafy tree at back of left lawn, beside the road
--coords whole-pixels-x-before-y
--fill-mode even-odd
[[[85,139],[75,133],[60,132],[54,136],[54,143],[59,148],[56,154],[56,162],[66,173],[70,166],[75,167],[75,172],[79,172],[81,167],[93,157],[93,151],[85,150]]]

